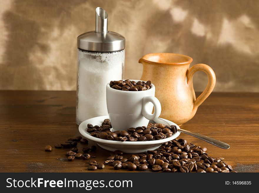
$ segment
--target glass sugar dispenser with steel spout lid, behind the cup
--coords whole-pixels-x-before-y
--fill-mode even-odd
[[[95,11],[95,31],[77,37],[77,125],[107,115],[105,87],[124,75],[125,38],[108,31],[104,9]]]

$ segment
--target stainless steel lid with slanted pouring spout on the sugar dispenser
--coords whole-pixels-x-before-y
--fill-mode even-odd
[[[119,33],[108,31],[108,14],[97,7],[95,9],[95,31],[89,31],[77,37],[77,48],[93,52],[116,52],[125,49],[125,38]]]

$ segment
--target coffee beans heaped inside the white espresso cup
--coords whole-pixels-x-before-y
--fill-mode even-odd
[[[150,89],[151,81],[148,80],[147,82],[135,82],[134,80],[114,80],[110,82],[110,86],[116,90],[141,91]]]

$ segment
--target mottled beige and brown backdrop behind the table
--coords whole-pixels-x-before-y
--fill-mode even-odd
[[[124,78],[141,77],[143,55],[172,52],[210,65],[214,91],[259,92],[258,0],[0,1],[0,89],[75,90],[77,36],[97,6],[126,38]],[[195,89],[206,84],[196,73]]]

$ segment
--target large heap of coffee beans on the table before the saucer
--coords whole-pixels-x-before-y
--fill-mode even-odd
[[[175,139],[162,144],[158,149],[125,158],[122,151],[110,153],[105,165],[114,169],[151,170],[153,172],[236,172],[223,157],[213,158],[206,147]]]

